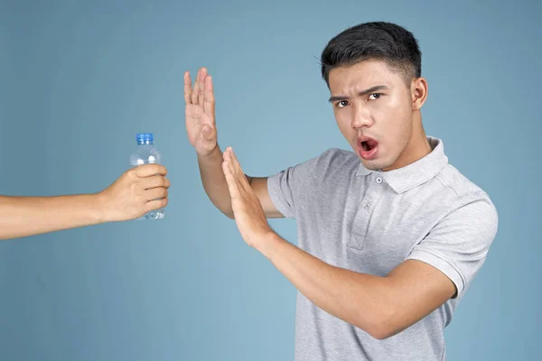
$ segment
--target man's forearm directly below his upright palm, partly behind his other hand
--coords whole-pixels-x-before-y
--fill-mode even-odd
[[[229,218],[233,218],[228,183],[222,171],[222,152],[219,146],[208,156],[198,154],[201,183],[212,204]],[[250,177],[247,176],[248,181]]]

